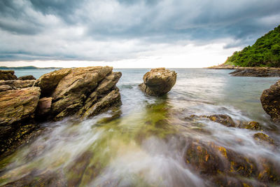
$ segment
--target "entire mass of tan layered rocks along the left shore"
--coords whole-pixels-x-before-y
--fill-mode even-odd
[[[87,118],[119,106],[120,76],[113,67],[59,69],[36,81],[33,76],[17,78],[14,71],[0,71],[0,155],[34,137],[30,134],[43,121]]]

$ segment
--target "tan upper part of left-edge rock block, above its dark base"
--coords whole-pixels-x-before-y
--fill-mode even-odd
[[[0,125],[10,125],[34,116],[40,88],[22,88],[0,92]]]

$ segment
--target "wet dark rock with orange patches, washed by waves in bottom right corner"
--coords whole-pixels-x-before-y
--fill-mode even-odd
[[[265,158],[250,158],[214,142],[189,139],[184,159],[198,174],[216,184],[240,186],[239,180],[247,181],[247,185],[280,184],[279,163]]]

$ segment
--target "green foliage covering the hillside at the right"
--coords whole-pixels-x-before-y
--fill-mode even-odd
[[[280,25],[260,37],[253,46],[235,51],[225,64],[239,67],[280,67]]]

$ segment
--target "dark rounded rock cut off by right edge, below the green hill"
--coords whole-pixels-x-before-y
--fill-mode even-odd
[[[277,81],[269,89],[264,90],[260,96],[262,109],[275,123],[280,122],[280,81]]]

